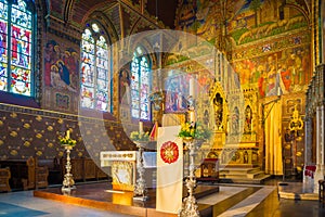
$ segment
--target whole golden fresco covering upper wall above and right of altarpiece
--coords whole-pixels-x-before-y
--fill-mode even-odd
[[[242,86],[258,86],[260,97],[286,94],[304,90],[312,76],[306,10],[296,1],[185,0],[178,28],[232,53]],[[220,46],[220,38],[226,46]]]

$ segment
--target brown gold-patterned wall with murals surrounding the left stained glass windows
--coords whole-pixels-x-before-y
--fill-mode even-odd
[[[113,44],[139,31],[162,28],[161,22],[131,1],[49,0],[36,1],[36,98],[1,92],[0,158],[61,157],[64,150],[57,137],[67,129],[77,140],[72,157],[92,156],[99,163],[100,151],[134,150],[128,135],[138,123],[120,120],[118,68],[120,54],[133,53],[136,44],[118,44],[112,54],[112,113],[84,111],[79,107],[81,34],[87,22],[96,21]],[[69,71],[68,85],[55,77],[60,67]],[[145,130],[148,127],[145,123]]]

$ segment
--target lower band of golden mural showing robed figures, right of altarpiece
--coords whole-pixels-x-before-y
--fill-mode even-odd
[[[311,55],[308,46],[234,63],[242,85],[256,84],[260,97],[302,91],[309,84]]]

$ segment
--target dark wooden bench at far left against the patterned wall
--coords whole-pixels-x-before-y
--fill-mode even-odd
[[[29,190],[48,187],[49,170],[38,166],[35,157],[28,159],[0,161],[1,168],[10,168],[10,186],[15,189]]]

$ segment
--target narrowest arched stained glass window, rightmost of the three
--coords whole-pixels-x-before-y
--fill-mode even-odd
[[[152,72],[148,58],[143,54],[141,47],[133,53],[131,73],[131,115],[133,118],[150,120],[148,94]]]

